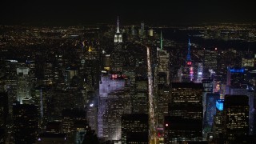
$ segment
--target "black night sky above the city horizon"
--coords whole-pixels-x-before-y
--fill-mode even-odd
[[[255,2],[248,0],[153,1],[1,1],[0,24],[56,25],[256,22]]]

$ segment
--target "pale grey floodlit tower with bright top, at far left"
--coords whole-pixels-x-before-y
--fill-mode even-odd
[[[30,69],[26,67],[17,68],[17,98],[18,102],[22,104],[24,98],[31,98],[30,92]]]

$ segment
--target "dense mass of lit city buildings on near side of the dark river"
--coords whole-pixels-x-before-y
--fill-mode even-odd
[[[256,142],[250,50],[172,44],[144,22],[30,28],[20,47],[15,30],[0,38],[0,143]]]

